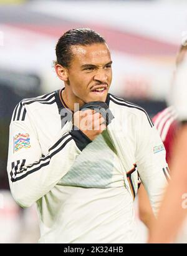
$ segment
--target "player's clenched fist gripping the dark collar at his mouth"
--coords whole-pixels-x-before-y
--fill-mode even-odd
[[[94,140],[106,129],[105,119],[94,110],[77,111],[74,113],[74,125],[90,140]]]

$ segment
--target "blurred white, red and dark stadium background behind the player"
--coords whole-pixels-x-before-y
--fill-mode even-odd
[[[35,208],[19,208],[9,192],[9,123],[19,100],[63,86],[52,66],[55,44],[77,27],[94,29],[107,40],[110,91],[153,116],[170,94],[176,52],[187,34],[187,1],[0,0],[0,243],[39,238]]]

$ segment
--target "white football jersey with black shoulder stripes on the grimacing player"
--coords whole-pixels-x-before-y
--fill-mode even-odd
[[[90,141],[64,121],[60,96],[58,90],[25,99],[14,110],[7,163],[14,199],[22,207],[37,203],[41,243],[141,242],[133,208],[137,166],[155,210],[168,177],[165,148],[150,118],[108,94],[115,118]],[[124,133],[112,129],[114,120],[122,125],[120,110]]]

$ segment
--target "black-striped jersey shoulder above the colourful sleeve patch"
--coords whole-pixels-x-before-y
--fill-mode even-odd
[[[36,96],[33,98],[25,98],[17,103],[13,115],[12,121],[24,121],[26,118],[26,112],[28,108],[36,110],[38,107],[52,105],[55,103],[55,91],[47,93],[45,95]]]

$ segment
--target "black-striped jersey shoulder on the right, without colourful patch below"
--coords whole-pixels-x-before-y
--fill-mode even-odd
[[[148,116],[148,113],[142,108],[141,106],[138,106],[134,103],[131,103],[129,101],[124,100],[123,98],[119,98],[115,95],[112,95],[110,93],[110,102],[111,105],[115,106],[115,108],[121,108],[129,115],[134,115],[135,118],[146,118],[148,123],[150,123],[150,126],[154,126],[153,122],[151,121],[151,118]]]

